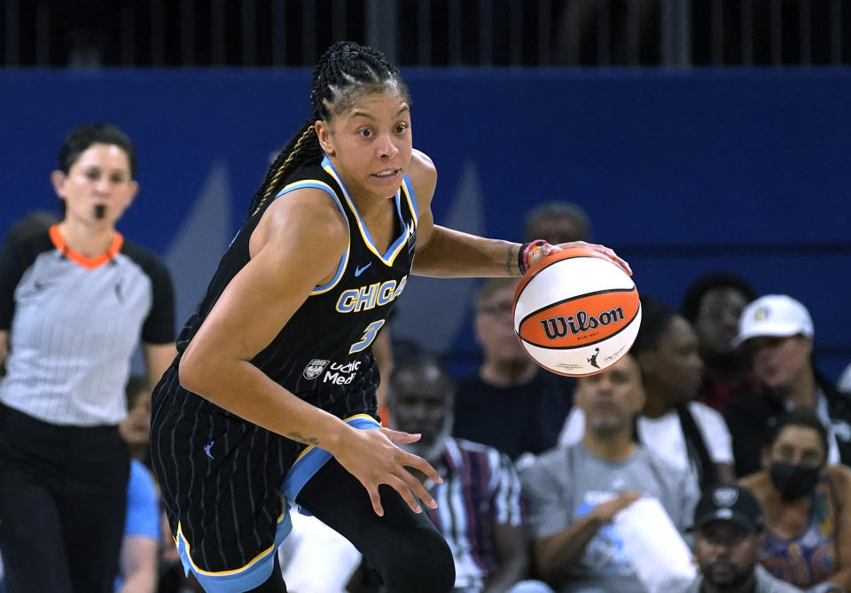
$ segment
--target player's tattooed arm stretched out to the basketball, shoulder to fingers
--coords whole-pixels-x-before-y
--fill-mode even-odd
[[[519,243],[484,238],[434,224],[431,203],[437,184],[437,170],[423,152],[414,151],[408,170],[417,194],[419,220],[417,249],[412,272],[431,277],[511,277],[520,276]],[[629,274],[632,271],[608,247],[576,241],[558,246],[549,244],[536,250],[530,265],[559,249],[584,247],[604,254]]]

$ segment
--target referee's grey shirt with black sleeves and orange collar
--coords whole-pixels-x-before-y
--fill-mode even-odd
[[[0,252],[0,402],[56,425],[116,425],[139,340],[174,341],[165,263],[119,233],[105,254],[67,248],[57,226]]]

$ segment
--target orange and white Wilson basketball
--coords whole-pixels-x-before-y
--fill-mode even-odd
[[[590,249],[563,249],[535,263],[514,293],[514,332],[547,371],[583,377],[629,351],[641,324],[632,278]]]

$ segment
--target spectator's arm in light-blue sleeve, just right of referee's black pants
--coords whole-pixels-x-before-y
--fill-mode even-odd
[[[116,593],[154,593],[160,553],[160,496],[153,475],[138,459],[130,460],[127,519],[121,541]]]

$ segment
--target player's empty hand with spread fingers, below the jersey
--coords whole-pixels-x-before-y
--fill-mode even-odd
[[[438,484],[443,481],[440,474],[422,457],[394,445],[396,442],[415,442],[419,437],[419,434],[402,433],[383,427],[352,429],[340,443],[340,448],[334,452],[334,457],[340,465],[366,488],[372,508],[379,517],[384,516],[379,495],[380,484],[386,484],[398,492],[411,511],[422,512],[418,498],[432,509],[437,508],[437,502],[432,495],[428,494],[423,484],[405,468],[417,469]]]

